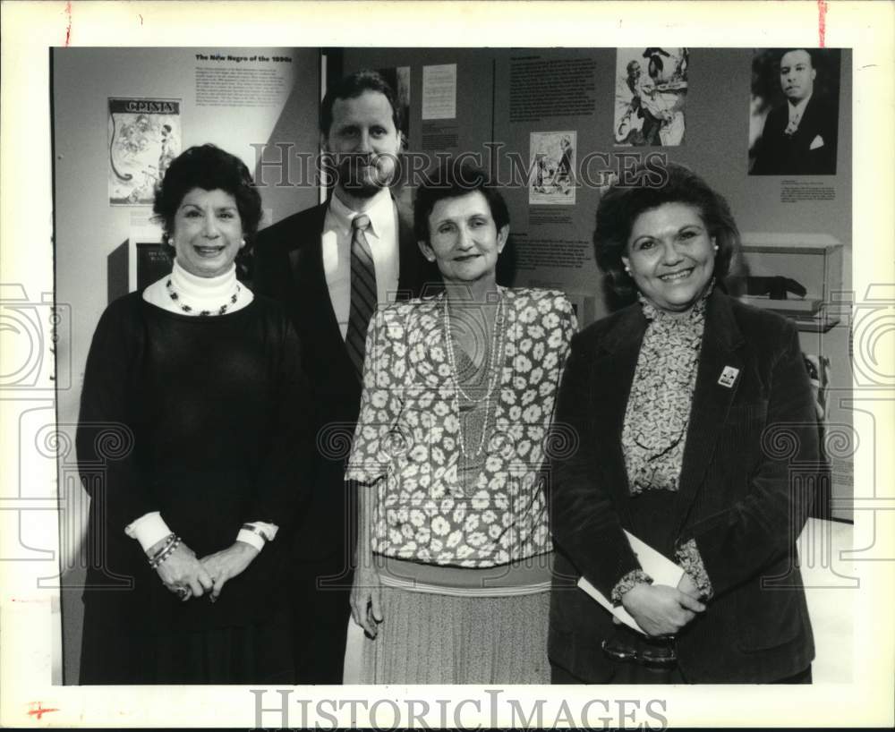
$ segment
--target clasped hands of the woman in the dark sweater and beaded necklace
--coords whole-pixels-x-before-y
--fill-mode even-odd
[[[158,565],[156,571],[165,586],[183,601],[210,592],[210,599],[214,602],[227,581],[241,575],[257,556],[258,549],[251,544],[235,541],[226,549],[198,559],[195,552],[181,541],[180,546]]]

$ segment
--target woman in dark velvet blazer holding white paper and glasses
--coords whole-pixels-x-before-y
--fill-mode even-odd
[[[810,683],[795,542],[823,467],[797,330],[724,293],[727,203],[685,167],[649,175],[603,195],[594,233],[609,285],[639,302],[575,336],[559,396],[576,447],[553,465],[552,678]],[[623,530],[683,567],[677,587]]]

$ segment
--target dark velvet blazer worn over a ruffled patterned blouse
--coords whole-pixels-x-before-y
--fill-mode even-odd
[[[578,445],[551,476],[550,660],[592,682],[610,675],[611,616],[575,582],[608,597],[639,566],[622,533],[632,500],[621,432],[646,326],[638,303],[575,336],[558,402]],[[732,387],[719,383],[725,367],[739,370]],[[673,530],[656,549],[673,558],[695,539],[714,597],[678,634],[679,664],[695,683],[769,682],[814,657],[795,542],[823,464],[796,328],[716,290],[697,368]]]

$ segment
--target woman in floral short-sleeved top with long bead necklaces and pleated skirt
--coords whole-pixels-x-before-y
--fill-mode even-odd
[[[444,292],[375,314],[345,474],[362,681],[546,683],[544,448],[575,315],[497,284],[509,215],[481,170],[448,161],[414,214]]]

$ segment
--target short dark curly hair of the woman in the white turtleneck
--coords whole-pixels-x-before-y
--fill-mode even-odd
[[[174,234],[177,209],[183,196],[194,188],[225,191],[234,197],[243,225],[248,251],[261,220],[261,196],[242,160],[215,145],[196,145],[185,149],[168,166],[165,178],[156,188],[152,213],[165,231],[165,243]]]

